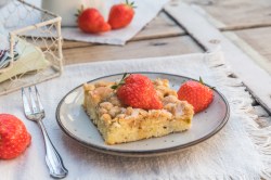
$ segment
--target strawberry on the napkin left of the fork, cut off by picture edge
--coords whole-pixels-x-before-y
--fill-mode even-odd
[[[30,144],[31,136],[15,116],[0,114],[0,159],[17,157]]]

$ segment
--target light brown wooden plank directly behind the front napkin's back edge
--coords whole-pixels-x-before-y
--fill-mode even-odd
[[[203,50],[189,36],[128,42],[125,47],[91,46],[64,49],[65,64],[179,55]]]

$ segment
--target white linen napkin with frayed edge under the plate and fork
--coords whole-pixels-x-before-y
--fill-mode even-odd
[[[91,151],[68,138],[56,124],[55,108],[72,89],[91,79],[124,72],[160,72],[198,78],[215,86],[228,99],[231,115],[225,127],[201,144],[176,154],[129,158]],[[253,99],[231,73],[220,53],[189,54],[72,65],[62,77],[38,85],[47,117],[43,120],[69,170],[66,179],[246,179],[271,178],[271,127],[259,128],[250,113]],[[0,112],[20,117],[33,136],[20,157],[0,160],[1,179],[49,179],[39,128],[24,117],[21,92],[0,98]]]

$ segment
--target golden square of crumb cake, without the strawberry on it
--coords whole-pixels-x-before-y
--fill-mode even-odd
[[[167,79],[153,81],[163,110],[142,110],[125,106],[112,89],[115,82],[83,85],[83,107],[96,125],[105,143],[117,144],[152,137],[163,137],[188,130],[194,115],[193,106],[178,100]]]

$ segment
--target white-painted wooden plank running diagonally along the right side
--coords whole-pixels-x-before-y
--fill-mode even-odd
[[[233,73],[243,80],[255,99],[271,112],[271,77],[267,72],[189,4],[172,1],[165,7],[165,10],[206,50],[211,50],[214,47],[209,43],[210,40],[219,40],[225,61]]]

